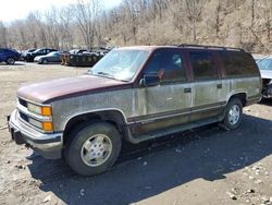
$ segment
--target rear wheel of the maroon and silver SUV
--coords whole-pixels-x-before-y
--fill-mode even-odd
[[[224,125],[228,130],[234,130],[239,126],[243,117],[243,105],[240,99],[233,98],[228,101],[225,109]]]

